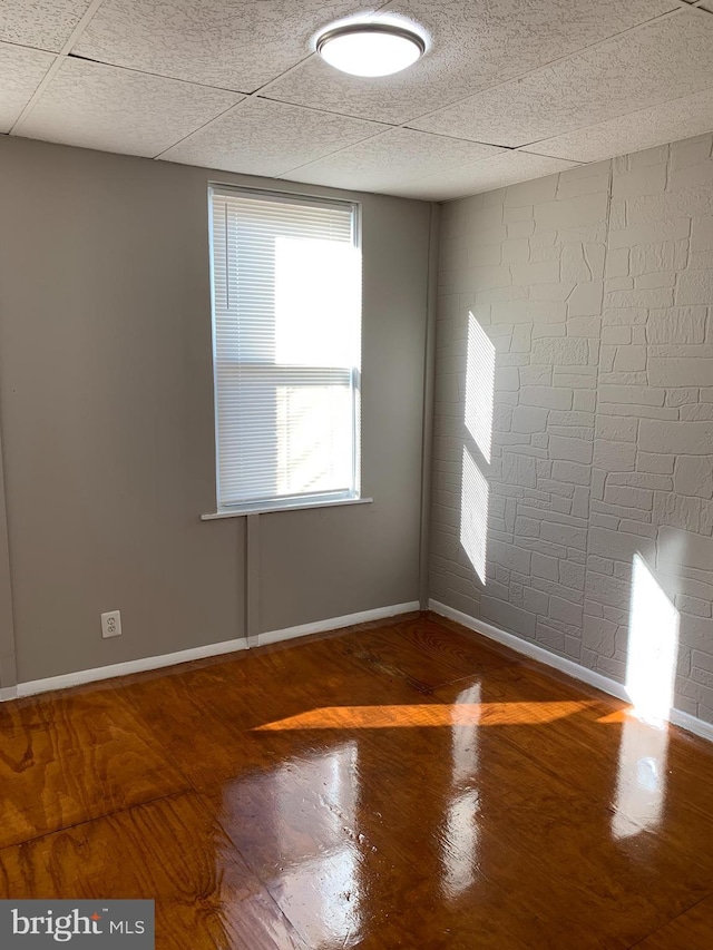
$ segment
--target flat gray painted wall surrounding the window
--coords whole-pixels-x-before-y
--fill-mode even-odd
[[[211,178],[300,190],[0,139],[20,682],[244,635],[245,519],[198,520],[215,509]],[[359,198],[362,481],[374,503],[261,517],[262,630],[418,598],[429,206]],[[111,609],[124,635],[102,640]]]

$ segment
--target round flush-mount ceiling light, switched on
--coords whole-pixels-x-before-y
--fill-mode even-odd
[[[391,76],[426,52],[423,39],[391,23],[348,23],[325,30],[316,51],[330,66],[352,76]]]

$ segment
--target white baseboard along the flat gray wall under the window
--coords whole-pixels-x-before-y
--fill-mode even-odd
[[[408,604],[395,604],[391,607],[378,607],[375,610],[363,610],[360,614],[348,614],[345,617],[332,617],[328,620],[316,620],[313,624],[302,624],[300,627],[287,627],[284,630],[270,630],[266,634],[260,634],[257,645],[266,646],[267,644],[276,644],[282,640],[295,639],[296,637],[305,637],[310,634],[336,630],[340,627],[351,627],[353,624],[364,624],[369,620],[381,620],[388,617],[395,617],[398,614],[409,614],[418,609],[418,600],[412,600]],[[165,666],[176,666],[179,663],[191,663],[193,659],[205,659],[206,657],[221,656],[222,654],[236,653],[243,649],[247,649],[247,639],[241,637],[235,640],[223,640],[222,643],[208,644],[203,647],[178,650],[178,653],[148,656],[143,659],[115,663],[111,666],[79,669],[76,673],[50,676],[47,679],[18,683],[17,686],[0,689],[0,703],[21,696],[33,696],[37,693],[48,693],[50,689],[67,689],[70,686],[81,686],[85,683],[111,679],[115,676],[128,676],[130,673],[146,673],[152,669],[162,669]]]

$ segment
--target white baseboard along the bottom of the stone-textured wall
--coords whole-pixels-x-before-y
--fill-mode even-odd
[[[550,653],[548,649],[537,646],[536,644],[530,644],[514,634],[508,634],[499,627],[494,627],[492,624],[488,624],[486,620],[479,620],[476,617],[471,617],[469,614],[455,610],[452,607],[448,607],[448,605],[441,604],[439,600],[429,600],[429,609],[434,614],[439,614],[441,617],[448,617],[448,619],[455,620],[457,624],[467,627],[469,630],[475,630],[477,634],[482,634],[484,637],[488,637],[504,646],[510,647],[510,649],[514,649],[517,653],[529,656],[530,659],[536,659],[546,666],[551,666],[555,669],[560,670],[560,673],[566,673],[568,676],[579,679],[582,683],[586,683],[589,686],[594,686],[596,689],[600,689],[603,693],[608,693],[609,696],[616,696],[617,699],[629,702],[626,687],[622,683],[617,683],[616,679],[611,679],[608,676],[603,676],[600,673],[587,669],[585,666],[580,666],[572,659]],[[673,725],[680,726],[682,729],[686,729],[701,738],[706,738],[709,742],[713,742],[713,725],[703,722],[703,719],[699,719],[688,713],[683,713],[681,709],[672,709],[668,715],[668,721],[673,723]]]

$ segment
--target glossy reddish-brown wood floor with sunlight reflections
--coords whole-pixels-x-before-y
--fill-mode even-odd
[[[0,792],[159,950],[713,947],[713,745],[430,615],[4,704]]]

